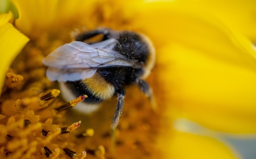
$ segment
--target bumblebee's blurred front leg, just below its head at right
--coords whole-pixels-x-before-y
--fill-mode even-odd
[[[140,90],[150,99],[151,107],[156,111],[156,102],[153,95],[153,91],[148,85],[148,83],[144,80],[137,79],[136,80]]]

